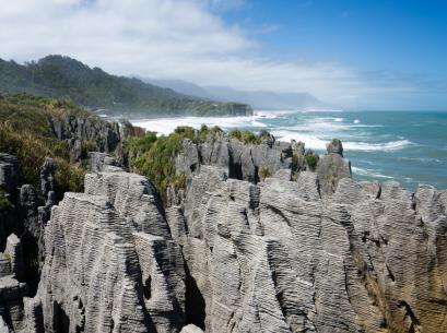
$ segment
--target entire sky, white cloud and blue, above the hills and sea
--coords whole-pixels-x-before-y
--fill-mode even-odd
[[[2,0],[0,58],[447,110],[444,0]]]

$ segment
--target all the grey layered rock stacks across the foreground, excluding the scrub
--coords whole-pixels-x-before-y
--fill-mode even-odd
[[[355,181],[337,140],[315,168],[306,153],[273,140],[186,141],[177,171],[187,188],[167,207],[144,177],[92,154],[85,192],[51,210],[37,295],[23,298],[14,282],[23,295],[3,306],[15,316],[5,323],[38,333],[447,332],[447,191]],[[14,237],[5,251],[0,271],[16,281]]]

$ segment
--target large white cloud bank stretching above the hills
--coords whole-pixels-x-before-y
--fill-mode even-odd
[[[228,26],[215,14],[216,9],[243,4],[243,0],[9,1],[0,10],[0,58],[28,61],[60,53],[115,74],[309,92],[351,107],[367,94],[383,92],[337,62],[281,62],[254,56],[259,49],[252,34]]]

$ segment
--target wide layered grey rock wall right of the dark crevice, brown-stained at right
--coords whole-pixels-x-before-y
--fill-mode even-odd
[[[256,186],[201,166],[185,214],[167,211],[188,321],[212,333],[447,332],[445,192],[344,178],[320,195],[316,173]]]

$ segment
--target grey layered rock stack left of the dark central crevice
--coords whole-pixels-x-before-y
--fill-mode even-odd
[[[34,300],[45,332],[180,331],[185,270],[158,200],[122,171],[87,175],[85,193],[66,193],[45,230]]]

